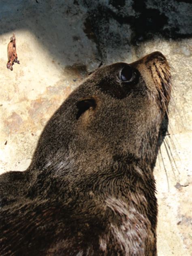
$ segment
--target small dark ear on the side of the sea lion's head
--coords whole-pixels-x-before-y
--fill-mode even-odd
[[[76,115],[76,119],[79,119],[79,117],[85,113],[88,109],[95,109],[96,108],[96,99],[94,97],[90,98],[83,98],[79,100],[76,104],[78,112]]]

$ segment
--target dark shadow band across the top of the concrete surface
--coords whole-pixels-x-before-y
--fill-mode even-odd
[[[155,37],[191,37],[190,2],[2,0],[0,34],[30,30],[61,64],[93,67],[123,61],[131,46]]]

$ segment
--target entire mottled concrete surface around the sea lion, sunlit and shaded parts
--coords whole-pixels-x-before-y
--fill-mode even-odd
[[[169,134],[156,164],[158,255],[190,256],[190,0],[0,2],[0,172],[25,170],[47,120],[102,62],[161,51],[172,67]],[[20,65],[6,69],[13,32]]]

